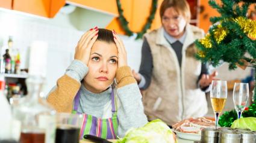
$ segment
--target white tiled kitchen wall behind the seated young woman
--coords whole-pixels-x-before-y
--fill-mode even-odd
[[[19,48],[20,51],[20,68],[28,68],[28,50],[31,43],[37,40],[48,43],[45,94],[51,90],[57,79],[64,74],[65,69],[73,59],[75,46],[83,35],[82,31],[73,28],[69,20],[66,19],[63,14],[57,14],[54,19],[41,19],[39,17],[23,16],[13,13],[13,11],[0,10],[0,47],[3,45],[1,56],[7,48],[8,35],[11,35],[14,41],[13,48]],[[61,23],[61,26],[58,23]],[[94,25],[89,27],[94,27]],[[121,38],[126,45],[128,64],[138,71],[142,41],[134,41],[134,38],[128,36],[121,36]],[[3,44],[1,44],[1,41],[3,41]]]

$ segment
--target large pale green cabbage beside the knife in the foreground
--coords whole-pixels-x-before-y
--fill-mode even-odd
[[[143,127],[130,129],[117,143],[176,143],[175,134],[160,119],[150,121]]]

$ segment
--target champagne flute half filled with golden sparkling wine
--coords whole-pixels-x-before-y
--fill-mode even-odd
[[[226,103],[226,96],[228,95],[228,89],[226,86],[226,81],[213,80],[211,81],[211,106],[215,114],[215,129],[217,129],[217,124],[219,121],[219,114],[222,112],[222,109]]]

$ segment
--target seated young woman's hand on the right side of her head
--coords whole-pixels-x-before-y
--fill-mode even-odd
[[[116,32],[112,30],[114,36],[114,42],[116,42],[116,47],[118,51],[118,68],[127,65],[127,54],[125,50],[125,45],[123,45],[122,40],[117,36]]]

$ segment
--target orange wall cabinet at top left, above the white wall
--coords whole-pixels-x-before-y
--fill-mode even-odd
[[[65,0],[13,0],[13,10],[52,18],[64,4]]]

